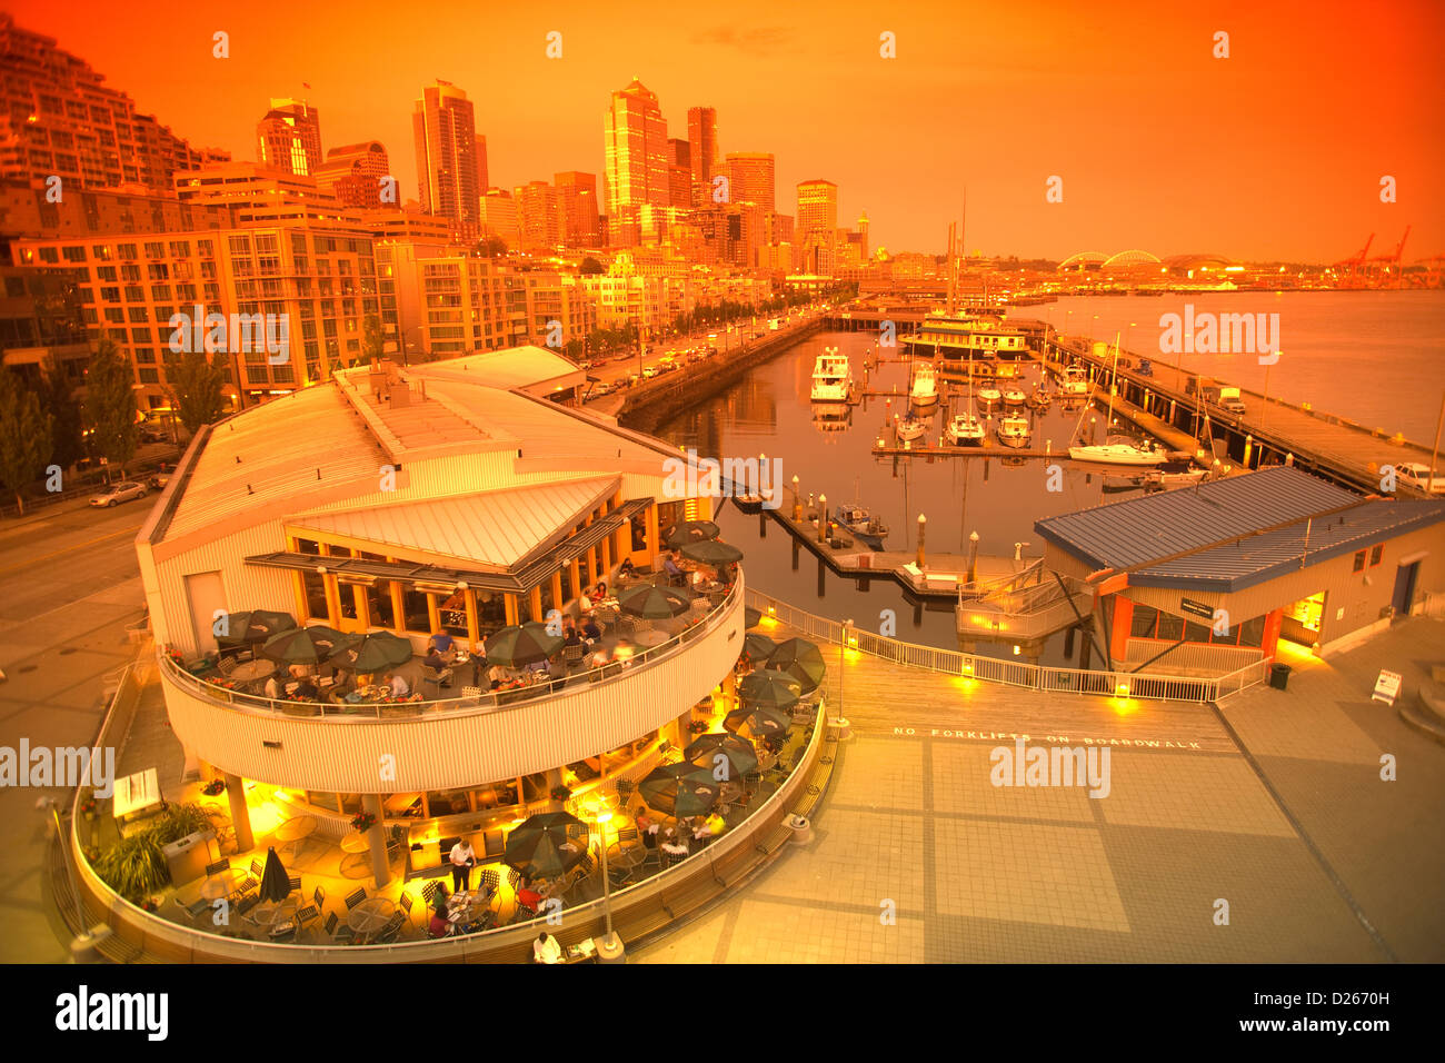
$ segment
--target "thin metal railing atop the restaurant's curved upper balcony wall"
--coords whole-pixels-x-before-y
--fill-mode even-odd
[[[243,690],[223,687],[205,678],[192,675],[168,652],[158,649],[156,659],[162,674],[175,686],[207,701],[220,703],[231,709],[266,716],[286,716],[292,719],[324,719],[328,723],[348,723],[355,720],[406,720],[419,717],[436,717],[451,714],[465,714],[478,712],[497,712],[517,709],[526,703],[543,697],[561,696],[579,687],[582,683],[610,683],[636,675],[662,659],[672,657],[688,642],[702,638],[722,625],[727,616],[738,605],[743,593],[743,577],[727,596],[712,606],[702,619],[696,620],[682,632],[670,636],[656,646],[640,649],[626,661],[608,661],[607,664],[588,668],[585,671],[569,673],[542,678],[538,683],[510,690],[490,690],[480,694],[462,697],[432,699],[420,701],[357,701],[354,704],[338,704],[334,701],[296,701],[289,699],[266,697],[263,694],[249,694]],[[223,677],[224,678],[224,677]]]

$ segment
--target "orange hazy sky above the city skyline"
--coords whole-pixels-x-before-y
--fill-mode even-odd
[[[490,181],[603,174],[610,94],[637,77],[669,136],[718,113],[722,152],[773,152],[777,210],[840,187],[871,244],[970,253],[1335,262],[1413,226],[1445,253],[1442,0],[730,0],[517,4],[17,0],[144,113],[254,159],[270,97],[306,98],[322,146],[380,140],[416,194],[412,108],[436,78],[475,101]],[[230,12],[230,13],[228,13]],[[230,35],[230,58],[212,35]],[[548,33],[562,56],[548,58]],[[1228,58],[1215,35],[1228,33]],[[892,33],[896,58],[883,58]],[[303,82],[311,88],[305,90]],[[1393,176],[1393,204],[1380,201]],[[1059,178],[1062,202],[1048,201]]]

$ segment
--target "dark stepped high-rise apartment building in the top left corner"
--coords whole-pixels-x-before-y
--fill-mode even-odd
[[[61,178],[62,191],[144,185],[169,191],[176,171],[230,159],[195,149],[55,38],[0,12],[0,176]]]

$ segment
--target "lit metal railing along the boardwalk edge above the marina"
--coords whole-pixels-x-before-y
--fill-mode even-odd
[[[756,590],[747,592],[747,603],[788,625],[803,635],[841,645],[844,625],[824,616],[815,616],[803,609],[779,602]],[[1266,662],[1253,662],[1227,675],[1165,675],[1156,673],[1130,671],[1085,671],[1082,668],[1052,668],[1026,661],[1007,661],[983,654],[964,654],[958,649],[939,649],[916,642],[903,642],[874,635],[860,628],[847,629],[848,648],[893,661],[910,668],[926,668],[946,675],[962,675],[985,683],[1000,683],[1025,690],[1068,694],[1104,694],[1110,697],[1134,697],[1157,701],[1215,701],[1221,688],[1238,693],[1243,677],[1251,668]],[[1259,681],[1259,680],[1256,680]],[[1224,687],[1221,687],[1221,683]]]

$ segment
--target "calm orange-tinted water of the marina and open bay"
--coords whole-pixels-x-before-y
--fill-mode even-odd
[[[1392,431],[1429,440],[1435,432],[1445,364],[1445,294],[1441,292],[1345,292],[1298,295],[1201,295],[1189,299],[1195,312],[1277,312],[1280,314],[1282,354],[1270,370],[1270,392],[1290,401],[1314,402],[1363,421],[1379,421]],[[1182,312],[1185,299],[1095,298],[1064,299],[1049,307],[1029,307],[1017,317],[1043,317],[1062,324],[1066,311],[1069,328],[1097,336],[1129,327],[1130,340],[1140,354],[1147,338],[1157,347],[1159,315]],[[1257,309],[1256,309],[1257,307]],[[1094,314],[1098,314],[1097,323]],[[1081,327],[1084,317],[1090,328]],[[1147,330],[1146,330],[1147,325]],[[1123,331],[1121,328],[1121,331]],[[1358,341],[1350,336],[1358,334]],[[906,398],[870,398],[853,409],[841,430],[828,430],[815,421],[809,399],[812,367],[824,347],[838,347],[853,362],[854,377],[863,380],[863,359],[871,350],[871,336],[835,333],[815,336],[753,369],[728,390],[704,401],[696,408],[662,424],[657,435],[675,445],[694,447],[714,457],[747,457],[760,453],[782,460],[782,480],[798,476],[803,495],[822,492],[828,506],[860,500],[892,529],[884,538],[887,550],[913,551],[918,545],[918,516],[928,518],[926,548],[936,554],[965,554],[970,532],[978,532],[980,554],[1012,557],[1014,544],[1026,544],[1025,557],[1043,552],[1043,542],[1033,522],[1043,516],[1130,498],[1105,495],[1098,471],[1082,471],[1062,463],[1062,490],[1048,490],[1049,461],[1000,457],[886,457],[874,458],[871,448],[881,425],[894,412],[906,409]],[[1367,353],[1368,351],[1368,353]],[[1383,357],[1380,357],[1383,354]],[[1214,376],[1237,380],[1243,386],[1263,383],[1263,367],[1250,356],[1186,356],[1189,360],[1214,359]],[[1156,362],[1156,366],[1159,362]],[[1351,366],[1347,372],[1344,366]],[[1169,370],[1156,367],[1168,379]],[[1039,369],[1026,370],[1025,390],[1038,379]],[[879,366],[868,377],[874,390],[907,389],[909,366],[893,362]],[[1254,383],[1254,377],[1259,377]],[[928,440],[938,443],[948,418],[949,399],[965,401],[961,386],[945,386],[938,409],[932,414]],[[1065,409],[1058,401],[1049,411],[1027,414],[1033,425],[1033,447],[1052,443],[1065,448],[1074,431],[1087,428],[1088,418],[1104,419],[1098,409]],[[991,428],[991,422],[990,422]],[[767,521],[760,534],[757,516],[740,513],[731,505],[720,516],[724,537],[747,554],[751,586],[783,600],[834,619],[853,619],[860,628],[877,631],[880,612],[897,616],[897,636],[929,645],[957,648],[954,612],[949,602],[918,606],[892,580],[873,580],[858,586],[824,570],[806,548],[793,568],[792,539],[780,525]],[[983,646],[980,646],[983,649]],[[1010,646],[988,652],[1010,655]],[[1046,648],[1046,664],[1062,664],[1062,638]]]

